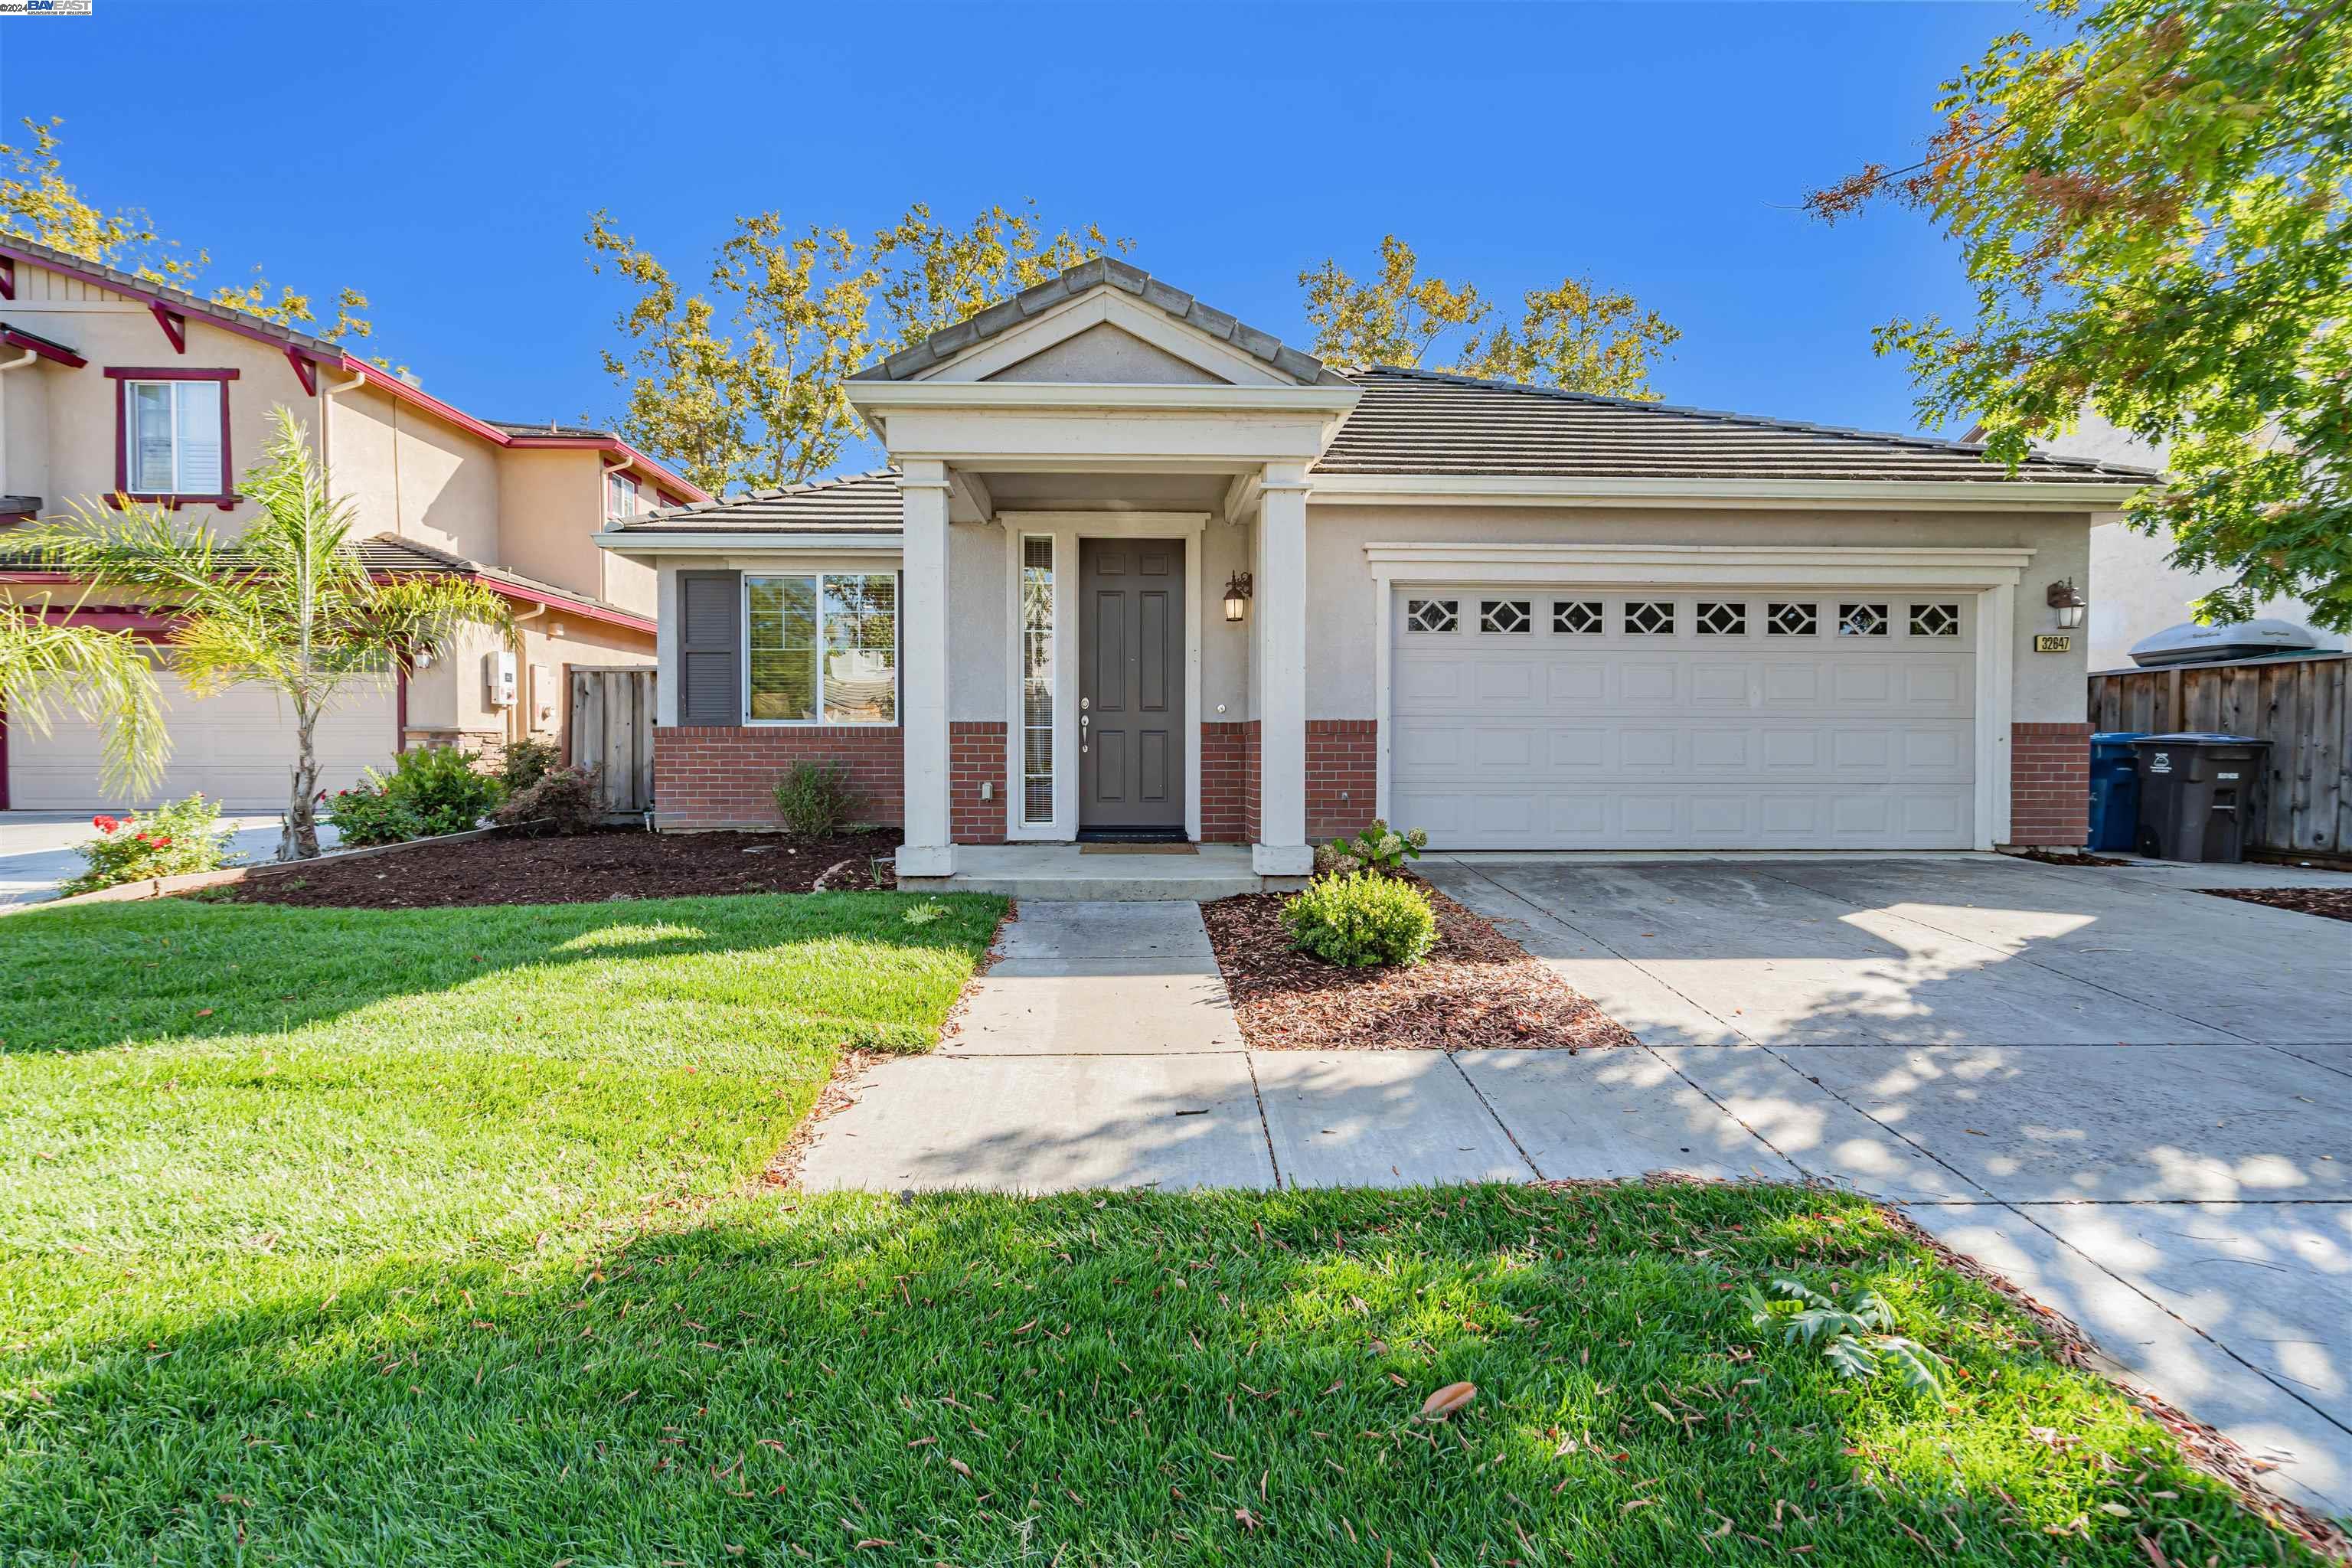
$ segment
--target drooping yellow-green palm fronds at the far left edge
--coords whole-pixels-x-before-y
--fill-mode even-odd
[[[35,736],[59,710],[106,726],[108,790],[136,795],[162,776],[172,736],[155,703],[155,670],[129,632],[49,621],[26,604],[0,604],[0,715]]]

